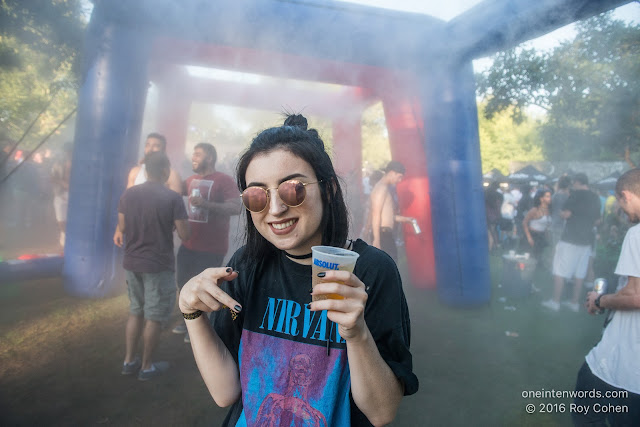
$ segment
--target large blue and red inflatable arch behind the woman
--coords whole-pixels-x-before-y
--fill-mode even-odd
[[[343,176],[359,177],[360,114],[381,100],[392,156],[407,167],[398,186],[401,209],[424,230],[405,235],[411,283],[437,287],[447,304],[470,306],[490,297],[471,60],[624,2],[487,0],[448,23],[331,1],[94,3],[63,267],[70,293],[96,297],[119,285],[121,254],[111,239],[153,81],[170,157],[183,153],[192,102],[281,110],[304,99],[305,113],[333,120]],[[185,65],[343,88],[262,87],[251,94],[242,85],[191,77]]]

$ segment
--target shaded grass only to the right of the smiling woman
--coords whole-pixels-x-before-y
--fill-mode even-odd
[[[501,300],[508,286],[500,284],[501,271],[501,258],[492,256],[491,302],[474,309],[445,306],[435,291],[405,283],[420,390],[404,399],[394,425],[571,425],[571,399],[524,399],[522,392],[573,390],[603,316],[543,308],[549,273],[535,277],[540,292]],[[534,414],[527,414],[527,404],[535,405]],[[543,404],[557,405],[549,408],[553,413],[540,413]]]

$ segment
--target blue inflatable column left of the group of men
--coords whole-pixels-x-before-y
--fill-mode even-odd
[[[123,285],[112,240],[117,204],[136,162],[147,92],[142,34],[101,20],[96,3],[85,48],[69,191],[63,277],[67,292],[101,297]]]

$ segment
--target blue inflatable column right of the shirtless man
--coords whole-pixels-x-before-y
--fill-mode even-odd
[[[491,278],[471,63],[421,84],[438,295],[453,306],[484,304]]]

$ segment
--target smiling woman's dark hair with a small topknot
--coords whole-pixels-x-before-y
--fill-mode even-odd
[[[236,168],[236,180],[240,191],[247,188],[246,173],[249,163],[259,155],[275,150],[285,150],[307,162],[318,178],[322,199],[322,244],[342,247],[349,235],[349,214],[344,202],[340,182],[324,142],[315,129],[307,129],[307,119],[300,114],[287,115],[284,125],[265,129],[256,136],[245,151]],[[286,175],[286,171],[284,175]],[[257,259],[275,254],[277,249],[256,229],[247,215],[245,250],[243,258]]]

